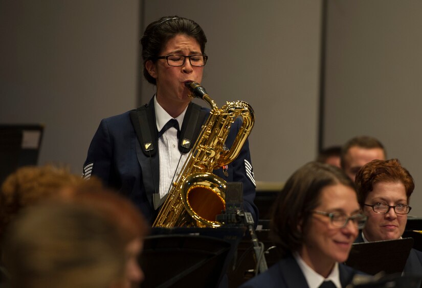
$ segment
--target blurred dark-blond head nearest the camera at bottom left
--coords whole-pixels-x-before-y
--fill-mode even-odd
[[[21,211],[8,228],[3,251],[12,287],[123,287],[125,245],[96,211],[43,203]]]

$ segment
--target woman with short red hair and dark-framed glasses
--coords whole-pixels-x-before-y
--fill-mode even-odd
[[[368,222],[357,243],[399,239],[410,212],[412,176],[397,159],[373,160],[356,175],[358,200]],[[410,250],[404,275],[422,276],[422,252]]]

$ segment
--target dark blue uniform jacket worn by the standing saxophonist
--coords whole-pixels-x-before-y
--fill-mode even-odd
[[[156,135],[157,138],[153,100],[150,101],[149,106],[145,105],[145,107],[149,107],[147,109],[152,111],[153,119],[151,118],[152,124],[150,123],[149,127],[153,127],[154,133],[152,135]],[[188,122],[186,119],[189,119],[188,110],[184,117],[182,132],[185,122]],[[133,111],[137,110],[102,119],[88,149],[83,175],[85,178],[95,175],[102,179],[107,186],[118,189],[122,195],[138,206],[146,219],[152,224],[159,211],[159,209],[154,209],[153,204],[153,194],[158,193],[159,187],[159,153],[155,151],[153,156],[149,157],[142,150],[130,119],[130,113],[133,113]],[[205,119],[208,117],[207,112],[209,111],[209,109],[201,108],[201,112],[207,115]],[[199,123],[199,130],[204,122],[201,120],[201,123]],[[226,140],[228,148],[231,147],[240,126],[240,119],[236,119]],[[194,143],[195,140],[193,139],[192,142]],[[158,150],[158,146],[156,150]],[[258,210],[253,203],[255,180],[248,141],[243,145],[239,156],[228,165],[227,172],[228,176],[225,176],[221,169],[214,170],[213,173],[228,182],[239,181],[243,183],[243,208],[252,213],[256,225]]]

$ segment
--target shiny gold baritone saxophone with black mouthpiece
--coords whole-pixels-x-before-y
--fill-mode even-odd
[[[254,111],[248,103],[227,102],[218,109],[198,83],[190,82],[186,86],[192,91],[192,97],[201,98],[211,106],[211,112],[153,227],[221,226],[215,217],[225,209],[226,181],[212,171],[236,159],[255,121]],[[228,150],[225,141],[237,117],[241,117],[243,123]]]

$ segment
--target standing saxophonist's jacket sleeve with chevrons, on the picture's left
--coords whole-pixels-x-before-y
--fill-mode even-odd
[[[116,177],[113,173],[113,146],[106,119],[101,121],[83,165],[83,178],[89,179],[92,175],[102,179],[107,186],[116,186]]]

